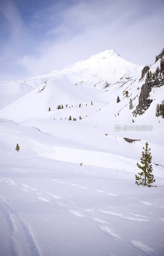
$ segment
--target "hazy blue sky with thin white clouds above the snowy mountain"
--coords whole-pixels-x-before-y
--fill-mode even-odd
[[[39,76],[115,50],[153,63],[164,47],[164,0],[1,0],[0,80]]]

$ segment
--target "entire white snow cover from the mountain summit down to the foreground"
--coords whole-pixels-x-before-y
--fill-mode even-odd
[[[150,107],[133,117],[142,68],[110,50],[67,70],[1,82],[0,255],[163,255],[164,120],[155,107],[164,89],[154,88]],[[116,124],[131,129],[116,132]],[[157,188],[135,185],[146,141]]]

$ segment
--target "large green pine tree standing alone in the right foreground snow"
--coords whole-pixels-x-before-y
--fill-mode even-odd
[[[138,172],[138,176],[136,176],[136,182],[135,184],[137,185],[142,185],[142,186],[147,186],[147,187],[153,187],[151,184],[155,181],[154,179],[154,175],[152,174],[152,164],[151,164],[151,160],[152,160],[152,156],[150,151],[150,148],[148,149],[148,143],[146,142],[146,148],[144,148],[144,151],[142,151],[142,157],[140,158],[141,160],[141,164],[143,164],[143,166],[141,166],[139,163],[137,163],[137,166],[139,167],[139,169],[142,170],[142,172]]]

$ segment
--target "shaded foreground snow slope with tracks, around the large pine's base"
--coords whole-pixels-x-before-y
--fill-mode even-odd
[[[1,255],[163,255],[163,189],[132,172],[0,150]]]

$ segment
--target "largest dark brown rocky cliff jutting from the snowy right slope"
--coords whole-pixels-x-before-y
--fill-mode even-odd
[[[159,86],[160,81],[156,78],[154,81],[143,84],[141,87],[141,93],[139,95],[139,104],[136,109],[132,112],[133,116],[142,115],[147,108],[150,107],[150,104],[153,100],[148,99],[149,93],[151,92],[151,88],[154,86]]]

